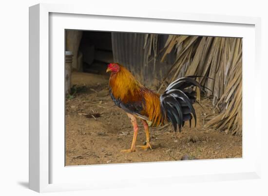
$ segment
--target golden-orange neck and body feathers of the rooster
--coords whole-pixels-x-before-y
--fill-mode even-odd
[[[130,71],[120,65],[120,71],[112,73],[109,80],[111,93],[123,105],[139,105],[139,111],[133,111],[139,118],[151,121],[153,125],[161,125],[165,119],[161,113],[159,94],[142,86]],[[134,107],[135,108],[135,107]],[[137,113],[138,112],[138,113]]]

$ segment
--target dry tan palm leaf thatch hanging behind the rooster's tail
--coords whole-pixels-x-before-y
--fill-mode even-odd
[[[156,48],[157,36],[152,38],[151,45]],[[203,76],[198,78],[199,82],[207,88],[207,96],[212,97],[213,106],[219,110],[206,126],[241,136],[242,39],[170,35],[162,49],[161,61],[172,51],[176,59],[159,90],[178,77]],[[200,92],[197,95],[200,99]]]

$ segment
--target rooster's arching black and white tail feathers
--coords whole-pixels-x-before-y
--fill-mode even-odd
[[[181,131],[184,122],[189,121],[191,127],[191,119],[194,118],[196,125],[196,114],[192,104],[196,100],[196,92],[192,87],[202,89],[202,86],[195,80],[198,76],[188,76],[172,82],[163,94],[160,95],[160,104],[162,115],[168,122],[171,122],[174,130]]]

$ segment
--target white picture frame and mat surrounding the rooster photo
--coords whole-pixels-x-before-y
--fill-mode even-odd
[[[156,28],[159,24],[165,28]],[[261,106],[256,101],[257,93],[247,96],[247,89],[261,92],[261,87],[244,80],[257,77],[260,67],[260,24],[260,18],[254,17],[136,12],[82,5],[30,7],[30,189],[55,192],[144,186],[143,180],[147,185],[165,185],[260,178],[261,163],[256,152],[261,152],[261,123],[257,123],[256,114],[261,113]],[[56,80],[56,76],[64,77],[64,29],[243,37],[243,158],[65,167],[64,79]],[[153,172],[156,169],[158,172]]]

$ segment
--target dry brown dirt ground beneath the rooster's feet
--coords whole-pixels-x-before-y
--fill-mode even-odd
[[[215,115],[208,98],[201,100],[204,108],[194,104],[196,127],[186,123],[181,133],[171,125],[151,127],[153,149],[120,152],[130,148],[133,128],[126,113],[112,102],[107,78],[103,81],[74,88],[76,93],[66,98],[66,165],[242,157],[241,137],[204,127],[205,117]],[[136,145],[142,145],[145,133],[138,123]]]

